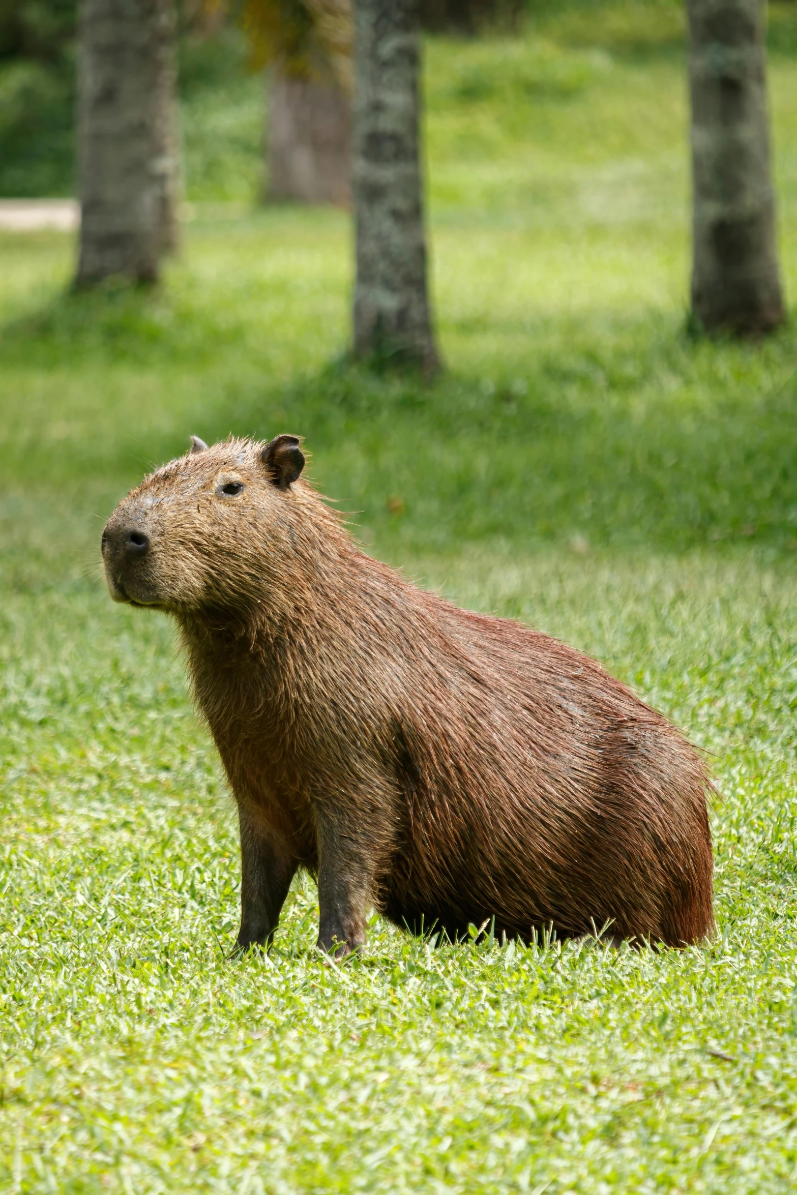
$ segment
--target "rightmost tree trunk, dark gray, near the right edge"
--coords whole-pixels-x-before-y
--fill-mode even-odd
[[[764,0],[688,0],[692,312],[737,336],[783,323],[764,43]]]

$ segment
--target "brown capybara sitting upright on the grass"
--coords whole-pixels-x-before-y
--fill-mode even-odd
[[[177,619],[238,803],[240,949],[269,942],[298,868],[338,955],[372,903],[452,938],[710,932],[711,784],[666,718],[364,556],[295,436],[192,441],[117,507],[103,557],[116,601]]]

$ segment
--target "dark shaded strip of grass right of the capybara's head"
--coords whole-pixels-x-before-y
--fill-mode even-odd
[[[740,370],[723,387],[723,356],[740,355],[681,337],[636,382],[623,381],[621,357],[575,353],[423,388],[338,364],[288,388],[282,407],[307,430],[326,492],[397,549],[755,539],[792,550],[797,382],[789,368],[756,392]],[[674,357],[686,376],[670,373]]]

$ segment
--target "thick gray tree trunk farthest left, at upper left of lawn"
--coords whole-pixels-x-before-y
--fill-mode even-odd
[[[173,0],[84,0],[78,286],[152,282],[177,247]]]

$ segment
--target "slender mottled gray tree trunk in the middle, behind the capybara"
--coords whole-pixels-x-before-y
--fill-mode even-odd
[[[418,0],[356,0],[354,200],[357,356],[439,366],[427,299],[418,146]]]

